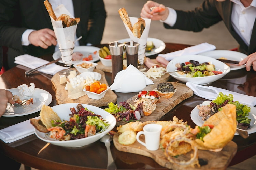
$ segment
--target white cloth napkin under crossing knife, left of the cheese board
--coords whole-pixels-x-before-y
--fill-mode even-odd
[[[35,69],[39,66],[49,63],[49,61],[43,60],[42,58],[31,56],[28,54],[24,54],[24,55],[15,57],[14,63],[23,65],[23,66],[31,68],[31,69]],[[66,69],[66,68],[63,66],[57,65],[55,63],[52,63],[52,64],[49,64],[49,65],[39,69],[38,71],[45,73],[45,74],[54,75],[63,69]]]

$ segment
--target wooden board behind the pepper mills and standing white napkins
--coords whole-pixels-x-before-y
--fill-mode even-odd
[[[154,63],[157,63],[161,66],[160,63],[158,63],[155,59],[151,59]],[[98,65],[96,66],[97,69],[99,70],[102,70],[104,72],[109,72],[109,73],[112,73],[112,67],[107,67],[107,66],[104,66],[101,61],[99,61],[97,63]],[[125,69],[125,68],[124,68]],[[170,74],[164,74],[162,77],[158,77],[157,79],[154,79],[154,78],[150,78],[154,83],[156,82],[162,82],[162,81],[168,81],[169,79],[171,78],[171,75]]]

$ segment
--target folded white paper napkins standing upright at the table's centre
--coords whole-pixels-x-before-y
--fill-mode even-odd
[[[125,70],[116,74],[110,89],[121,93],[139,92],[149,84],[154,84],[154,82],[130,64]]]

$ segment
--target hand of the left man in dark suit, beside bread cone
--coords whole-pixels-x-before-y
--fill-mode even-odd
[[[49,28],[33,31],[29,34],[28,40],[34,46],[40,46],[47,49],[49,46],[57,45],[56,36],[54,31]]]

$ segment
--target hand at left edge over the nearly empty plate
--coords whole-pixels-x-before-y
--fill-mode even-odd
[[[0,89],[0,117],[4,114],[7,102],[14,104],[12,93],[8,90]]]

